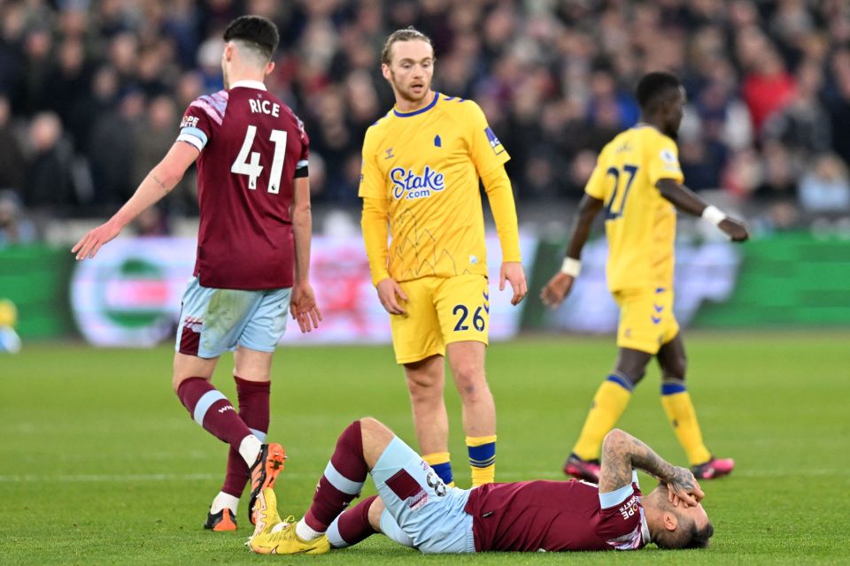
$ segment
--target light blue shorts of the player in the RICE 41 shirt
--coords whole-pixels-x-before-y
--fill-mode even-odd
[[[290,291],[201,287],[197,277],[183,293],[175,350],[213,358],[236,346],[273,352],[286,330]]]

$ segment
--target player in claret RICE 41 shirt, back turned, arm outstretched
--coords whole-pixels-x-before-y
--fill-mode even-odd
[[[197,263],[182,300],[173,386],[197,424],[230,445],[224,485],[205,524],[214,531],[236,529],[249,473],[250,516],[286,457],[280,444],[264,442],[272,356],[287,310],[301,332],[321,320],[309,283],[309,140],[301,120],[264,84],[274,70],[277,27],[243,16],[228,25],[224,41],[225,90],[189,104],[166,157],[108,222],[72,250],[78,260],[94,257],[167,195],[197,159]],[[225,350],[235,350],[238,414],[210,383]]]

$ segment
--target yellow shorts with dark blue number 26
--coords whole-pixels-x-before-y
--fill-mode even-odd
[[[445,345],[452,342],[488,343],[490,287],[483,275],[423,277],[399,285],[407,295],[402,302],[407,312],[390,315],[398,363],[445,356]]]

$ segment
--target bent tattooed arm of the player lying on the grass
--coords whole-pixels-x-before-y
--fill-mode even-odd
[[[614,429],[602,442],[602,469],[599,472],[599,493],[613,492],[631,483],[631,471],[644,470],[666,484],[669,501],[696,505],[705,495],[691,470],[668,463],[655,451],[628,432]]]

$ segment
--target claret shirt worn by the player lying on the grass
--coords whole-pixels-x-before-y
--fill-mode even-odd
[[[465,510],[477,552],[637,550],[650,542],[634,473],[611,493],[577,480],[487,484],[472,490]]]

